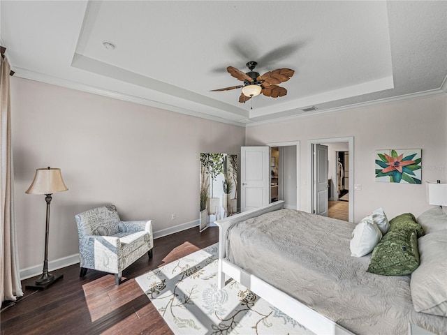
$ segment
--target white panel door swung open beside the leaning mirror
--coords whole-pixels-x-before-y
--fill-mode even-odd
[[[270,147],[241,147],[240,182],[241,211],[270,203]]]

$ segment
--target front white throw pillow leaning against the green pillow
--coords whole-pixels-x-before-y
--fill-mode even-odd
[[[382,238],[382,232],[372,218],[372,214],[356,225],[352,234],[349,248],[351,249],[351,256],[362,257],[372,252]]]

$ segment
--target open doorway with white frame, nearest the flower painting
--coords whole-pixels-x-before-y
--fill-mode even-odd
[[[309,211],[316,213],[316,209],[322,208],[320,202],[320,194],[316,188],[316,177],[320,177],[316,171],[318,164],[315,162],[314,151],[319,144],[324,144],[328,147],[328,175],[327,175],[327,201],[328,216],[339,218],[344,221],[353,222],[354,206],[353,206],[353,137],[336,137],[317,139],[309,141]],[[343,159],[340,159],[339,153],[343,153]],[[342,167],[340,166],[342,165]],[[341,168],[341,170],[340,170]],[[321,179],[321,178],[318,178]],[[339,198],[342,198],[341,200]],[[345,201],[343,201],[345,200]]]

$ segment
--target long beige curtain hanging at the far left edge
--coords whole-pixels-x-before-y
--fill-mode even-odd
[[[1,238],[0,281],[1,302],[23,296],[17,255],[14,216],[14,174],[11,150],[10,89],[8,59],[0,56],[0,188]]]

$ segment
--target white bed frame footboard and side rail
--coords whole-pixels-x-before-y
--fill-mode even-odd
[[[265,207],[258,209],[251,209],[240,214],[228,216],[221,220],[215,221],[219,226],[219,272],[218,281],[219,288],[223,288],[226,284],[226,276],[235,279],[249,290],[256,293],[273,306],[279,308],[281,311],[289,315],[291,318],[300,322],[311,332],[315,334],[334,334],[334,335],[353,335],[349,330],[337,325],[336,322],[326,318],[314,309],[302,304],[297,299],[287,295],[286,293],[274,288],[269,283],[262,281],[253,274],[249,274],[244,269],[237,267],[228,259],[226,259],[226,235],[228,229],[240,221],[245,221],[249,218],[260,216],[269,211],[276,211],[284,208],[284,201],[277,201],[268,204]]]

